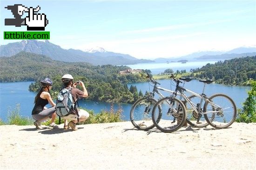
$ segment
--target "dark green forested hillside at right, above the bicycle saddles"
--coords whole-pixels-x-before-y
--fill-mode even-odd
[[[256,56],[240,57],[206,64],[201,69],[191,69],[188,76],[200,79],[214,79],[218,84],[249,85],[249,80],[256,80]]]

